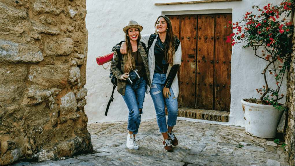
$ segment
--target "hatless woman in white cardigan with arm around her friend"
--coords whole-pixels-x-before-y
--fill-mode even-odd
[[[150,80],[150,95],[153,99],[157,122],[163,135],[163,146],[166,151],[173,151],[172,145],[178,140],[172,129],[176,125],[178,115],[177,70],[181,64],[181,44],[173,34],[172,24],[168,17],[159,16],[155,22],[156,37],[148,50]],[[148,45],[151,34],[142,35],[142,42]],[[179,43],[175,51],[176,43]],[[122,43],[121,53],[126,52],[125,42]],[[165,102],[164,102],[165,101]],[[168,120],[165,117],[165,103]],[[168,127],[167,127],[168,126]],[[172,144],[172,145],[171,145]]]

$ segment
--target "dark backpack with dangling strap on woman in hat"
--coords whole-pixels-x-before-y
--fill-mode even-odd
[[[143,48],[145,49],[145,52],[148,54],[148,50],[147,50],[147,47],[145,46],[145,44],[143,42],[140,42],[140,43],[142,44]],[[115,45],[113,47],[112,51],[114,52],[115,50],[116,50],[116,52],[117,52],[117,54],[119,56],[118,64],[121,64],[121,60],[123,60],[123,59],[122,59],[122,54],[120,52],[120,43],[118,43],[117,45]],[[121,65],[119,65],[118,68],[119,68],[119,70],[121,70]],[[115,77],[112,69],[110,69],[109,78],[111,78],[111,83],[113,84],[113,91],[112,91],[112,95],[111,95],[111,97],[109,99],[109,102],[108,102],[108,104],[106,106],[106,111],[104,113],[105,116],[107,116],[107,114],[108,114],[109,106],[110,106],[111,102],[114,101],[114,91],[115,91],[116,86],[118,85],[118,79]]]

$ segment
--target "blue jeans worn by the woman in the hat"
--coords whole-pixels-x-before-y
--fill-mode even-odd
[[[141,114],[139,109],[142,109],[145,100],[146,83],[144,78],[140,78],[134,84],[126,84],[125,94],[123,99],[129,109],[128,116],[128,130],[137,134],[141,121]]]

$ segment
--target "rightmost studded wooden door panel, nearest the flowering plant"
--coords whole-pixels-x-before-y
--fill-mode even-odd
[[[225,42],[232,29],[224,26],[232,21],[232,14],[217,14],[215,27],[215,109],[230,111],[230,73],[231,73],[231,43]]]

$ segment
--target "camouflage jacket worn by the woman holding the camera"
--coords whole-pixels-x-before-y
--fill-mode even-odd
[[[150,70],[149,70],[149,67],[148,67],[148,54],[145,52],[145,49],[143,48],[142,44],[139,42],[139,52],[140,52],[140,55],[142,57],[142,61],[145,65],[145,72],[146,72],[146,77],[145,80],[146,80],[146,84],[148,86],[150,86]],[[120,45],[118,45],[120,47]],[[118,47],[117,46],[117,47]],[[121,76],[124,74],[124,72],[122,70],[124,70],[124,56],[125,55],[122,55],[122,60],[121,60],[121,64],[118,64],[119,63],[119,56],[116,52],[116,50],[114,51],[114,57],[113,57],[113,60],[112,60],[112,63],[111,63],[111,69],[115,75],[115,77],[118,79],[118,92],[121,94],[121,95],[125,95],[125,87],[126,87],[126,81],[125,80],[120,80]],[[121,70],[118,68],[118,66],[121,65]],[[149,89],[149,88],[148,88]],[[148,90],[146,91],[146,93],[148,94]]]

